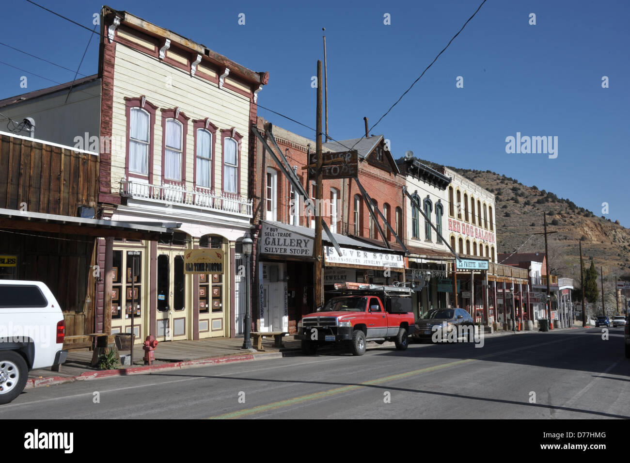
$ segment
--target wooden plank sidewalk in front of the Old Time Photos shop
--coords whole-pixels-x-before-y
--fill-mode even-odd
[[[263,338],[263,350],[248,352],[242,350],[243,338],[211,338],[198,341],[166,341],[159,343],[151,366],[144,365],[142,345],[134,346],[134,365],[123,365],[118,369],[99,370],[91,366],[93,352],[91,350],[74,350],[68,352],[66,363],[60,372],[49,368],[31,370],[25,389],[64,384],[81,380],[91,380],[130,374],[146,374],[156,370],[183,369],[212,365],[216,363],[248,362],[266,358],[278,358],[292,355],[299,350],[300,342],[293,336],[285,336],[283,347],[273,346],[273,339]],[[129,351],[121,351],[121,355]]]

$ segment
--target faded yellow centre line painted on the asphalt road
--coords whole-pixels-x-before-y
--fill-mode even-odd
[[[328,391],[314,392],[313,394],[307,394],[306,396],[293,397],[292,399],[286,399],[279,402],[273,402],[266,405],[259,405],[257,407],[248,408],[239,411],[232,411],[230,413],[224,413],[217,416],[210,416],[207,418],[209,420],[226,420],[230,418],[241,418],[241,416],[248,416],[251,414],[261,413],[263,411],[275,410],[282,407],[287,407],[290,405],[295,405],[299,403],[304,403],[312,400],[319,399],[321,397],[329,397],[334,396],[336,394],[343,394],[343,392],[354,391],[356,389],[360,389],[363,386],[372,386],[374,384],[381,384],[387,381],[393,381],[396,379],[402,379],[414,375],[419,375],[422,373],[432,372],[435,370],[440,370],[447,367],[454,367],[455,365],[462,365],[464,363],[475,362],[476,358],[467,358],[466,360],[455,360],[455,362],[442,363],[442,365],[434,365],[433,367],[425,367],[420,370],[413,370],[411,372],[406,373],[398,373],[391,376],[386,376],[382,378],[372,379],[369,381],[362,382],[361,384],[353,384],[350,386],[336,387],[335,389],[329,389]]]

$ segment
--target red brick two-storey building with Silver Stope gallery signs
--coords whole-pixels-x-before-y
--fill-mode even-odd
[[[273,146],[268,133],[271,129],[282,154],[307,193],[314,198],[315,182],[304,167],[308,164],[308,153],[315,149],[315,142],[280,127],[272,127],[260,117],[256,129]],[[398,176],[398,166],[386,140],[382,135],[373,135],[323,144],[324,152],[346,151],[348,148],[358,152],[358,178],[372,203],[404,239],[404,179]],[[258,289],[253,292],[252,319],[255,329],[261,331],[294,332],[295,323],[302,315],[314,310],[314,266],[312,249],[308,246],[312,245],[316,217],[301,202],[260,140],[256,140],[252,147],[250,171],[256,249],[253,287]],[[403,252],[396,245],[396,237],[379,218],[387,242],[394,244],[392,249],[387,249],[355,181],[324,180],[323,191],[321,214],[324,221],[336,234],[336,241],[344,253],[361,251],[363,259],[353,260],[352,264],[343,260],[324,232],[324,289],[342,281],[390,283],[401,280],[403,274],[396,270],[404,271]],[[303,244],[304,249],[295,248],[294,243]],[[304,254],[296,254],[299,252]],[[392,260],[391,265],[389,260]],[[391,268],[391,272],[384,273],[387,268]]]

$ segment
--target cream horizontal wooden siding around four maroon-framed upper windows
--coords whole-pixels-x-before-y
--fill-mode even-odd
[[[153,183],[161,185],[162,125],[161,110],[179,107],[188,120],[186,133],[186,188],[192,189],[195,165],[195,139],[193,120],[209,118],[219,130],[215,137],[214,190],[221,191],[222,146],[221,129],[234,127],[241,140],[241,164],[239,166],[239,193],[248,197],[249,153],[249,98],[227,88],[220,89],[200,77],[191,77],[182,69],[170,66],[159,59],[140,53],[121,43],[116,46],[113,94],[112,137],[125,140],[127,120],[124,98],[144,95],[147,101],[158,106],[154,126]],[[125,176],[126,144],[113,144],[112,193],[119,193],[120,179]]]

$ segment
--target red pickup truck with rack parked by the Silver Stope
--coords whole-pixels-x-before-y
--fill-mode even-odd
[[[415,329],[411,311],[411,289],[382,285],[340,287],[317,312],[302,317],[295,339],[309,355],[319,346],[350,345],[353,355],[365,353],[367,341],[394,341],[406,350],[408,336]]]

